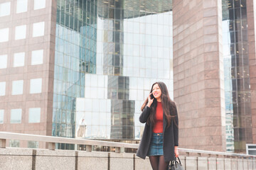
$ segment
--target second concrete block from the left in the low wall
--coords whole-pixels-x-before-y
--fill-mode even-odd
[[[36,170],[75,169],[75,151],[69,150],[36,150]]]

